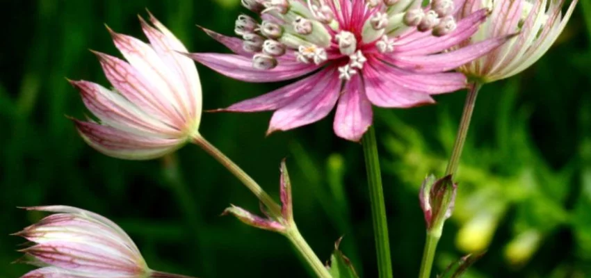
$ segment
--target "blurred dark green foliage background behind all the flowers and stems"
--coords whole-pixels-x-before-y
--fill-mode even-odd
[[[483,89],[458,173],[460,195],[436,269],[488,250],[467,277],[591,277],[591,4],[581,0],[553,49],[528,71]],[[39,220],[17,206],[67,204],[118,222],[157,270],[197,277],[307,277],[286,239],[220,217],[229,203],[258,210],[241,183],[197,147],[166,161],[95,152],[65,115],[84,117],[66,81],[108,85],[88,49],[118,55],[103,23],[144,38],[145,8],[191,51],[225,51],[195,24],[232,34],[238,0],[3,0],[0,45],[0,278],[24,240],[8,234]],[[204,108],[278,84],[233,81],[199,66]],[[465,92],[437,106],[376,111],[396,277],[415,277],[424,222],[418,188],[444,171]],[[363,277],[376,277],[362,148],[336,138],[332,116],[264,133],[270,113],[203,117],[201,131],[277,196],[288,158],[295,219],[318,256],[334,240]]]

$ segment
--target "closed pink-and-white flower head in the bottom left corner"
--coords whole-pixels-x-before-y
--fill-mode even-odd
[[[71,206],[26,209],[55,214],[16,234],[35,243],[21,251],[42,267],[23,278],[140,278],[152,272],[133,240],[111,220]]]

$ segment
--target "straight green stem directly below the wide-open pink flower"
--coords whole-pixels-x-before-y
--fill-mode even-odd
[[[390,240],[388,238],[388,222],[384,190],[382,189],[382,172],[378,157],[378,143],[375,141],[375,130],[370,126],[362,139],[367,181],[369,183],[369,202],[371,203],[371,219],[375,250],[378,254],[378,273],[380,278],[391,278],[392,265],[390,259]]]

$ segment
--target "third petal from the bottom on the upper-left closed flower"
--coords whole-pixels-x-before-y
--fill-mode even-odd
[[[170,126],[181,126],[184,122],[175,108],[163,97],[152,83],[147,81],[134,67],[119,58],[94,51],[99,58],[106,78],[126,99],[142,111],[153,115]]]

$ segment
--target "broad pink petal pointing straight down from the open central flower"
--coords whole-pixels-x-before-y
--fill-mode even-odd
[[[346,140],[358,142],[369,129],[373,120],[371,102],[365,95],[361,76],[348,81],[337,104],[334,115],[334,133]]]

